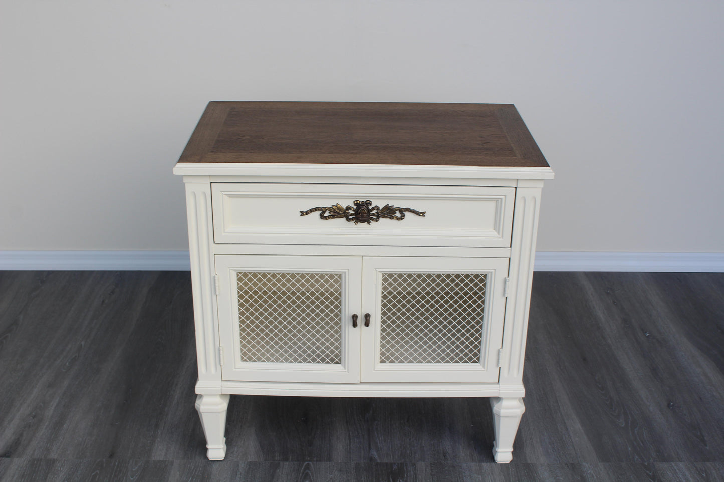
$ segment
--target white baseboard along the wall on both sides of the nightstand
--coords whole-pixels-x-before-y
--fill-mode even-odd
[[[188,271],[188,251],[0,251],[0,270]],[[535,271],[724,273],[724,253],[536,253]]]

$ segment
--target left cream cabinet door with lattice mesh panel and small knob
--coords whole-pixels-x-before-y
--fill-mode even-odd
[[[222,378],[358,383],[361,258],[217,255]]]

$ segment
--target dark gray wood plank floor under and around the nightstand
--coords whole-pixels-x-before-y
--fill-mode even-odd
[[[193,409],[184,272],[0,272],[2,481],[724,481],[724,274],[536,273],[526,414],[486,399],[232,397]]]

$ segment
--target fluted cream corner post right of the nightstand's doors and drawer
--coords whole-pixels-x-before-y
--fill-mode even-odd
[[[505,310],[500,366],[501,385],[520,385],[523,381],[540,195],[539,187],[518,187],[515,193],[510,291]]]

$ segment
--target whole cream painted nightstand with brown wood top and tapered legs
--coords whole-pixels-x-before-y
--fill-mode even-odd
[[[489,397],[510,462],[553,177],[514,106],[211,102],[174,173],[209,459],[263,394]]]

